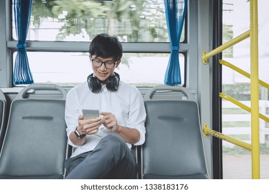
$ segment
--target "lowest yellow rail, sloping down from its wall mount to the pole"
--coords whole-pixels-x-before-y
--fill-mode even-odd
[[[248,144],[246,142],[243,142],[243,141],[239,141],[238,139],[235,139],[235,138],[233,138],[231,136],[222,134],[221,132],[217,132],[217,131],[211,130],[208,127],[208,124],[204,124],[203,125],[203,135],[204,136],[208,136],[208,134],[212,134],[212,136],[216,136],[219,139],[222,139],[224,141],[228,141],[230,143],[233,143],[235,145],[240,146],[241,148],[245,148],[245,149],[251,151],[251,145],[250,144]]]

